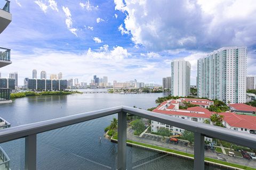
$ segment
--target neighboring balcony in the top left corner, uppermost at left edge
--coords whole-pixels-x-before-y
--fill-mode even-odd
[[[0,33],[2,33],[5,28],[12,21],[12,14],[10,13],[10,1],[0,0]]]

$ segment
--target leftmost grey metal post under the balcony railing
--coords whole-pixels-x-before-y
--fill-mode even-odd
[[[25,138],[25,169],[36,170],[36,134]]]

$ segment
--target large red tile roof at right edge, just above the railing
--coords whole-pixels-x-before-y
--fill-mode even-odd
[[[236,113],[225,112],[219,113],[224,116],[224,121],[230,126],[236,128],[246,128],[249,130],[256,130],[256,116],[238,115]]]

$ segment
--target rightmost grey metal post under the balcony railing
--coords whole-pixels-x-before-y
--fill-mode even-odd
[[[204,136],[195,132],[194,170],[204,170]]]

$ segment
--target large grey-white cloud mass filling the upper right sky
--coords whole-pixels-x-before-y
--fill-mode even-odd
[[[253,0],[114,2],[115,9],[126,14],[124,29],[131,33],[132,41],[148,50],[212,50],[256,45]]]

